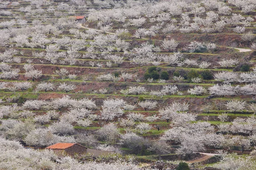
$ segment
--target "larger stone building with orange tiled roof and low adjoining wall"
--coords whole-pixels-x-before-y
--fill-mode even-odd
[[[114,153],[112,151],[90,149],[77,143],[56,143],[46,147],[46,149],[52,149],[59,156],[74,156],[75,154],[85,155],[87,153],[91,153],[94,156],[99,156]]]

